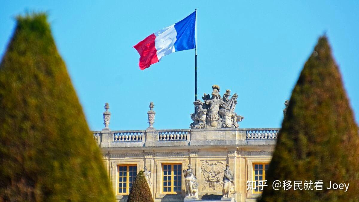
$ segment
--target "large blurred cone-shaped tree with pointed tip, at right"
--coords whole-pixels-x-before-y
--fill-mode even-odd
[[[319,38],[293,89],[261,201],[359,201],[359,138],[326,36]],[[274,190],[274,180],[290,180]],[[323,180],[323,190],[294,190],[294,180]],[[348,191],[327,189],[350,183]]]

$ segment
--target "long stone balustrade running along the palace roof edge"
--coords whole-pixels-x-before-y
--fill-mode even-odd
[[[102,130],[93,138],[100,147],[165,147],[214,145],[275,145],[279,128],[177,130]]]

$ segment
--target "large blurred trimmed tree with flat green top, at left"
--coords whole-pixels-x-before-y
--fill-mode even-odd
[[[0,201],[114,201],[45,14],[17,18],[0,63]]]

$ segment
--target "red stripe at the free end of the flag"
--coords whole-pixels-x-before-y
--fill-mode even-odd
[[[155,34],[151,34],[144,40],[134,45],[134,48],[140,54],[140,62],[138,65],[140,66],[141,70],[144,70],[151,64],[158,62],[155,38]]]

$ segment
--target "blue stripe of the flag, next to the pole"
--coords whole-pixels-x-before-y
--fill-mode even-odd
[[[196,12],[193,12],[174,25],[177,32],[177,40],[174,42],[175,51],[190,50],[196,47],[195,23]]]

